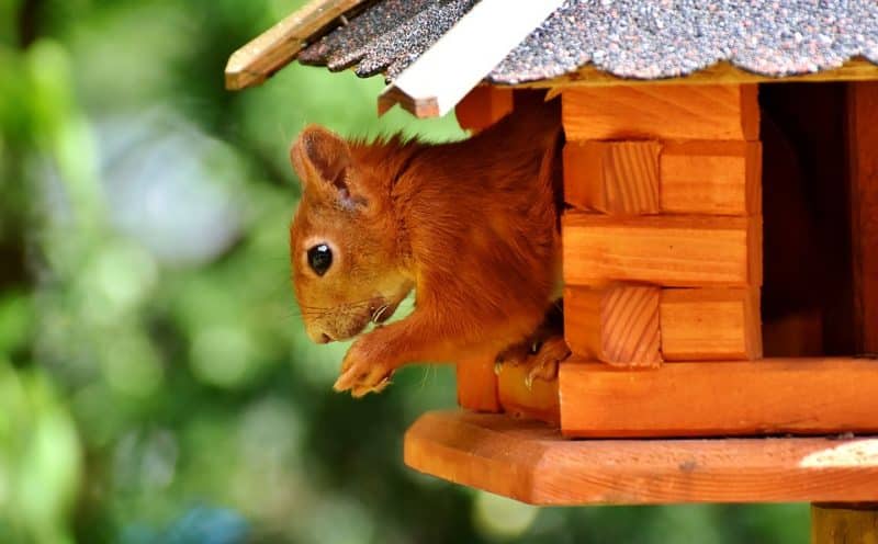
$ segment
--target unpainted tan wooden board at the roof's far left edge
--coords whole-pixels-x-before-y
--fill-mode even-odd
[[[333,21],[363,0],[312,0],[232,54],[226,65],[226,89],[262,83],[286,66],[302,47]]]

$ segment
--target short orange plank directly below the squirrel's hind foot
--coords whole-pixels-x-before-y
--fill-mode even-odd
[[[558,401],[558,378],[547,382],[534,379],[527,387],[528,366],[505,364],[498,376],[499,404],[514,417],[537,419],[555,426],[561,421]]]

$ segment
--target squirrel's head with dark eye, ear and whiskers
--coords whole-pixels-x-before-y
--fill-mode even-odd
[[[412,290],[380,169],[347,141],[306,127],[290,150],[302,200],[290,227],[293,287],[305,328],[319,343],[386,320]]]

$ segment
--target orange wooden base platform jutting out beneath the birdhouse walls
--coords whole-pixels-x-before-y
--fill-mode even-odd
[[[875,438],[565,440],[539,422],[452,411],[421,416],[404,458],[543,506],[878,500]]]

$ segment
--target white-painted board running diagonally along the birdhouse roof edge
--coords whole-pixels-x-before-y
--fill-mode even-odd
[[[450,112],[563,1],[481,0],[384,89],[379,113],[397,103],[418,117]]]

